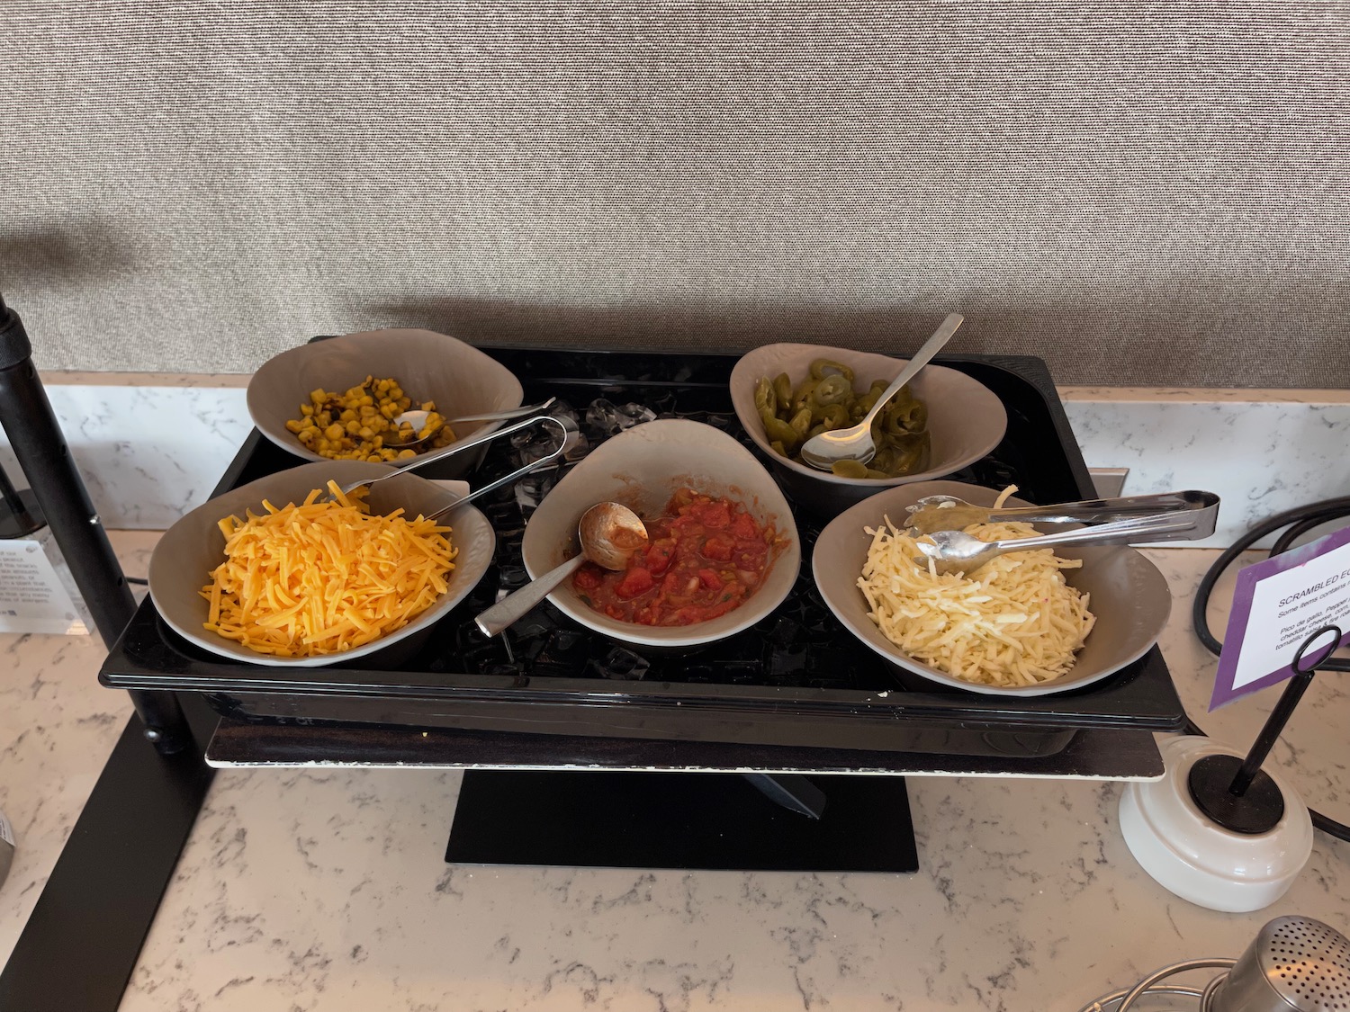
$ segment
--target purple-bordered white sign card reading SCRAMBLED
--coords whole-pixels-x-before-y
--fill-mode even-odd
[[[1350,644],[1350,528],[1238,572],[1210,710],[1293,677],[1295,653],[1328,625]],[[1330,646],[1327,634],[1308,656]]]

